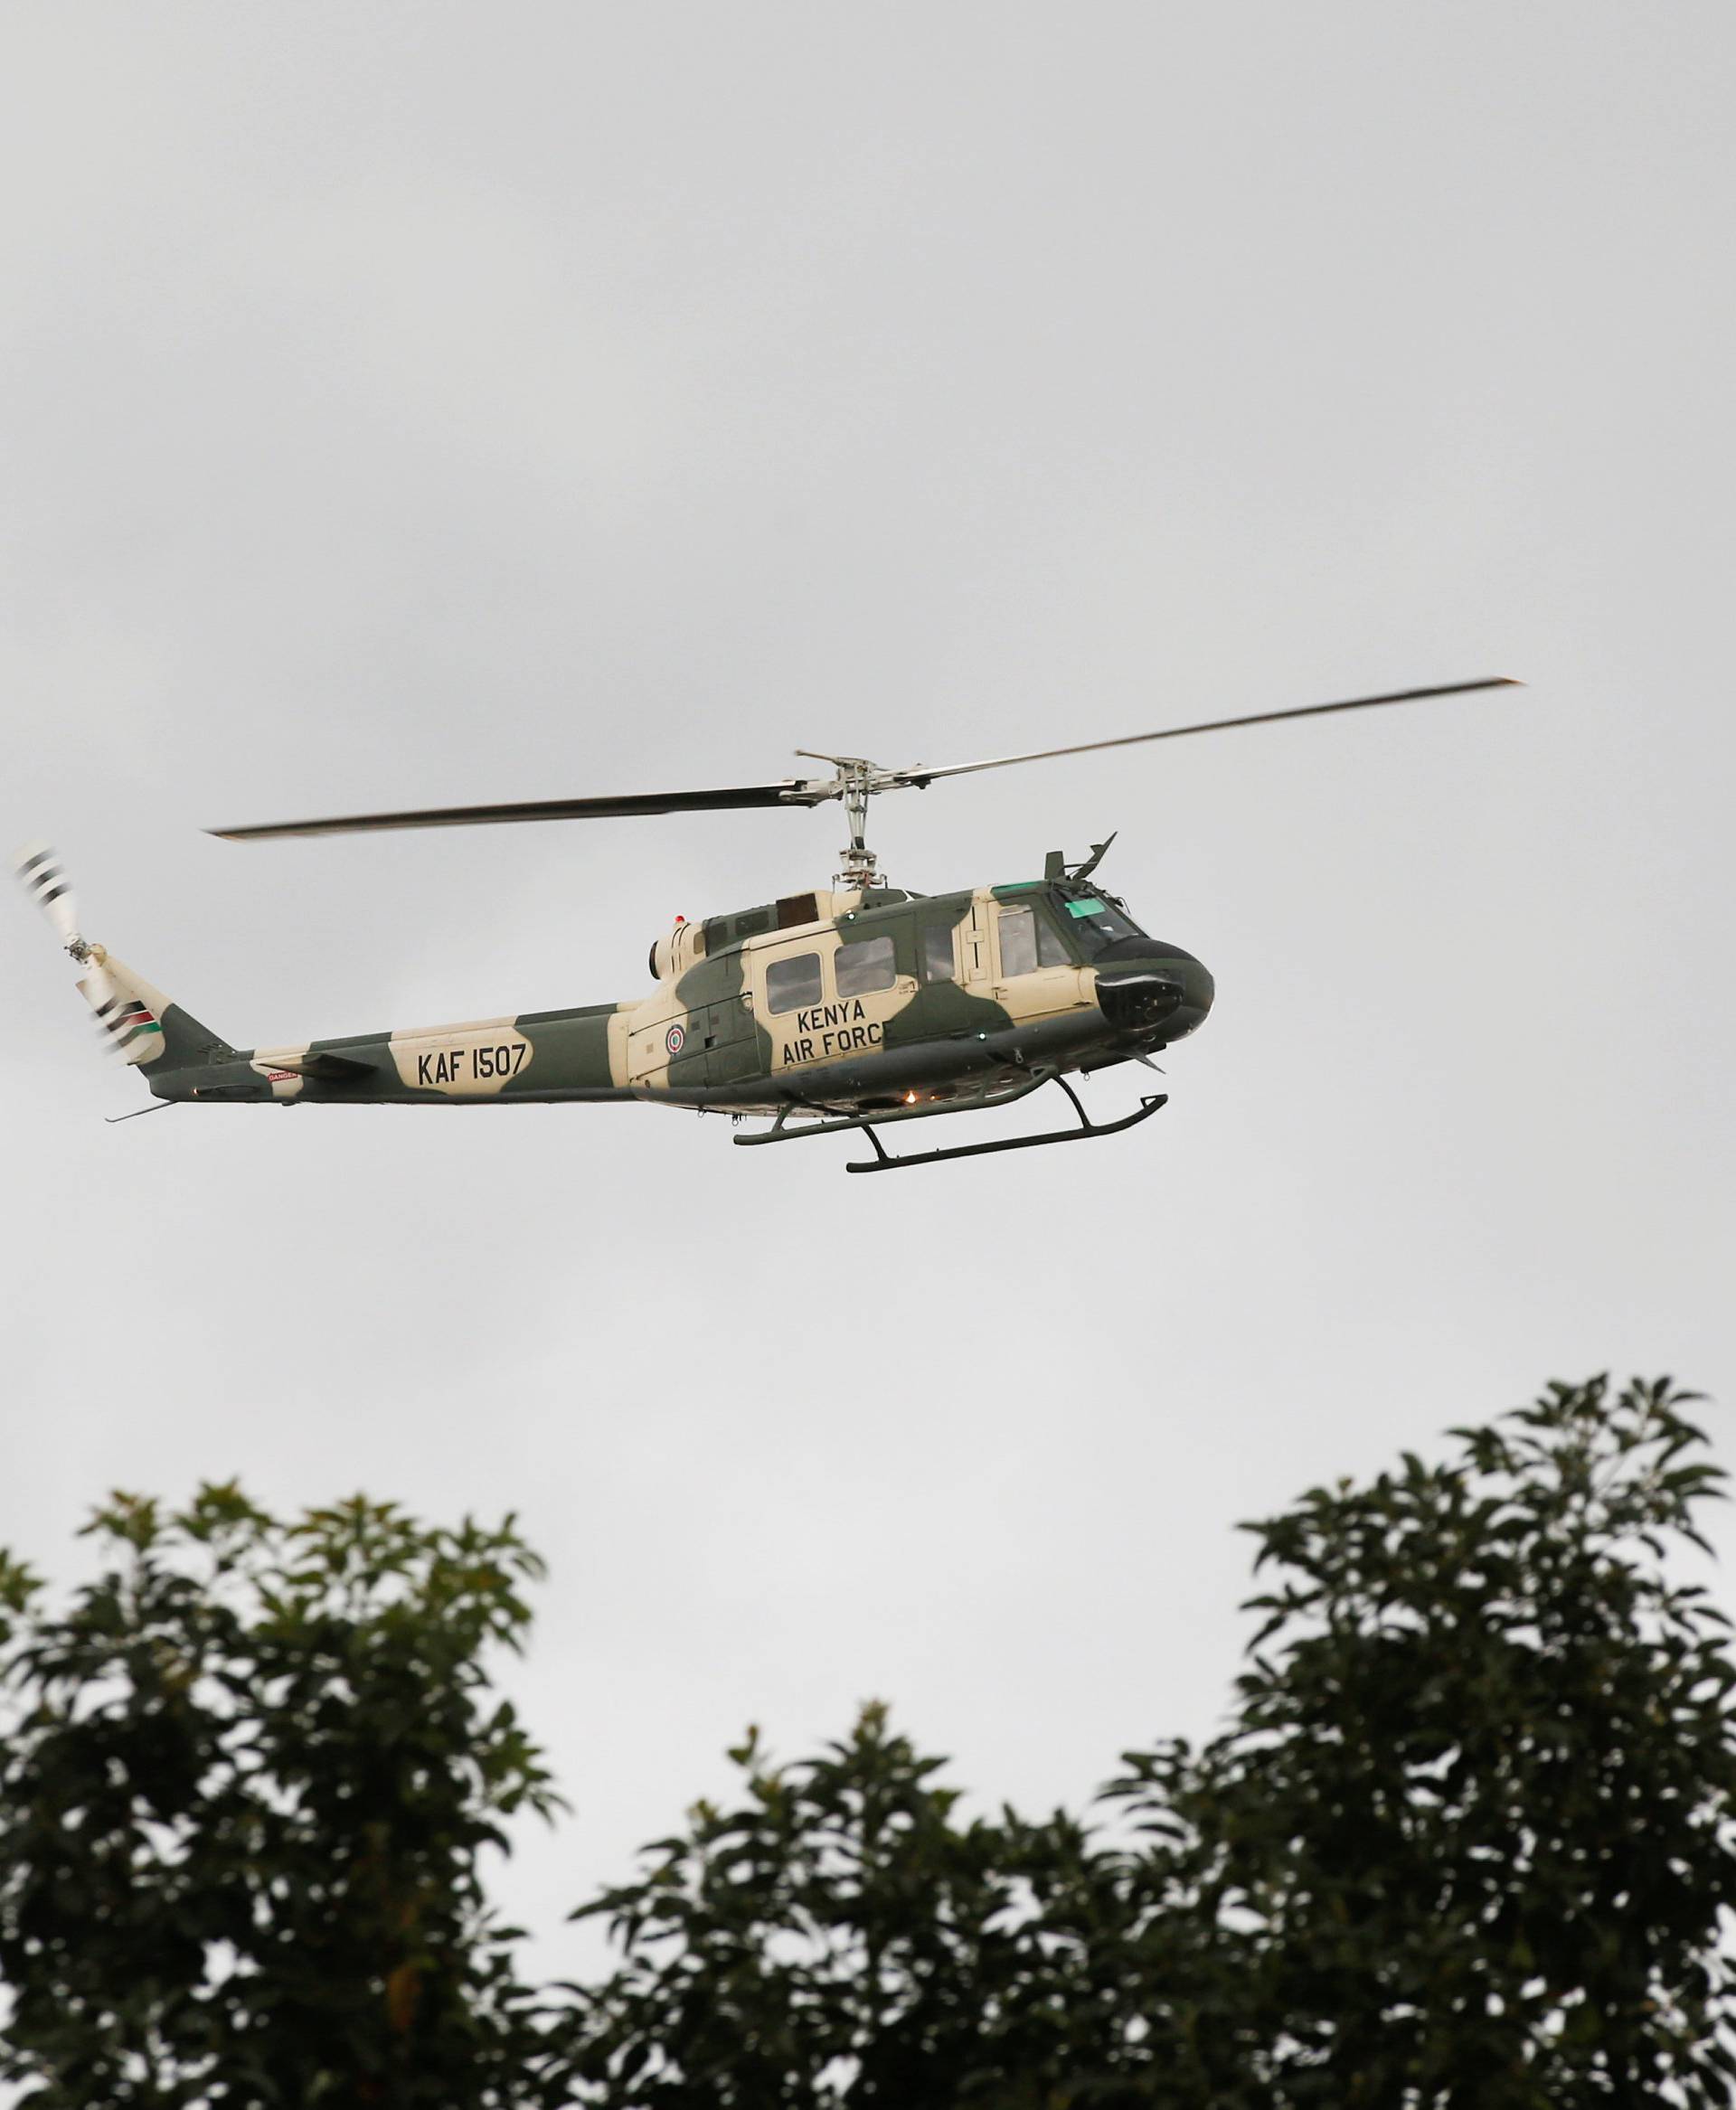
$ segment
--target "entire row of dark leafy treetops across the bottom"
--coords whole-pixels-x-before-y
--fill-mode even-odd
[[[1576,2110],[1732,2102],[1736,1665],[1669,1380],[1555,1384],[1255,1540],[1228,1726],[1082,1815],[970,1810],[882,1705],[730,1753],[536,1990],[477,1857],[542,1758],[487,1703],[510,1523],[232,1490],[0,1576],[6,2072],[70,2104]],[[131,2093],[129,2093],[131,2089]]]

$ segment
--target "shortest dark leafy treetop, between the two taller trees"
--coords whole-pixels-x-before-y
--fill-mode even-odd
[[[871,1705],[848,1743],[698,1804],[605,1914],[624,1969],[582,1996],[595,2099],[698,2106],[1044,2102],[1107,2055],[1084,1945],[1063,1933],[1086,1865],[1074,1823],[956,1817],[958,1794]],[[1038,1901],[1031,1910],[1029,1901]],[[1042,1907],[1055,1907],[1044,1916]]]

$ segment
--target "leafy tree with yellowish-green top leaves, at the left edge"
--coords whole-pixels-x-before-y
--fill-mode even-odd
[[[63,1612],[0,1566],[0,2076],[72,2106],[532,2104],[538,2032],[477,1861],[555,1806],[487,1654],[510,1519],[234,1485],[118,1494]]]

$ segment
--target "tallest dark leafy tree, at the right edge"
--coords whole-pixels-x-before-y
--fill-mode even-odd
[[[1110,1794],[1232,1931],[1268,2102],[1728,2099],[1736,1669],[1660,1566],[1721,1479],[1685,1403],[1555,1384],[1251,1526],[1236,1726]]]

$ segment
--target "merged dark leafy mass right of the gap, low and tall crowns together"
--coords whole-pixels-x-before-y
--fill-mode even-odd
[[[1730,2102],[1736,1684],[1673,1574],[1721,1475],[1669,1382],[1550,1386],[1249,1526],[1230,1730],[1097,1829],[956,1817],[871,1709],[648,1848],[574,2023],[686,2110]]]

